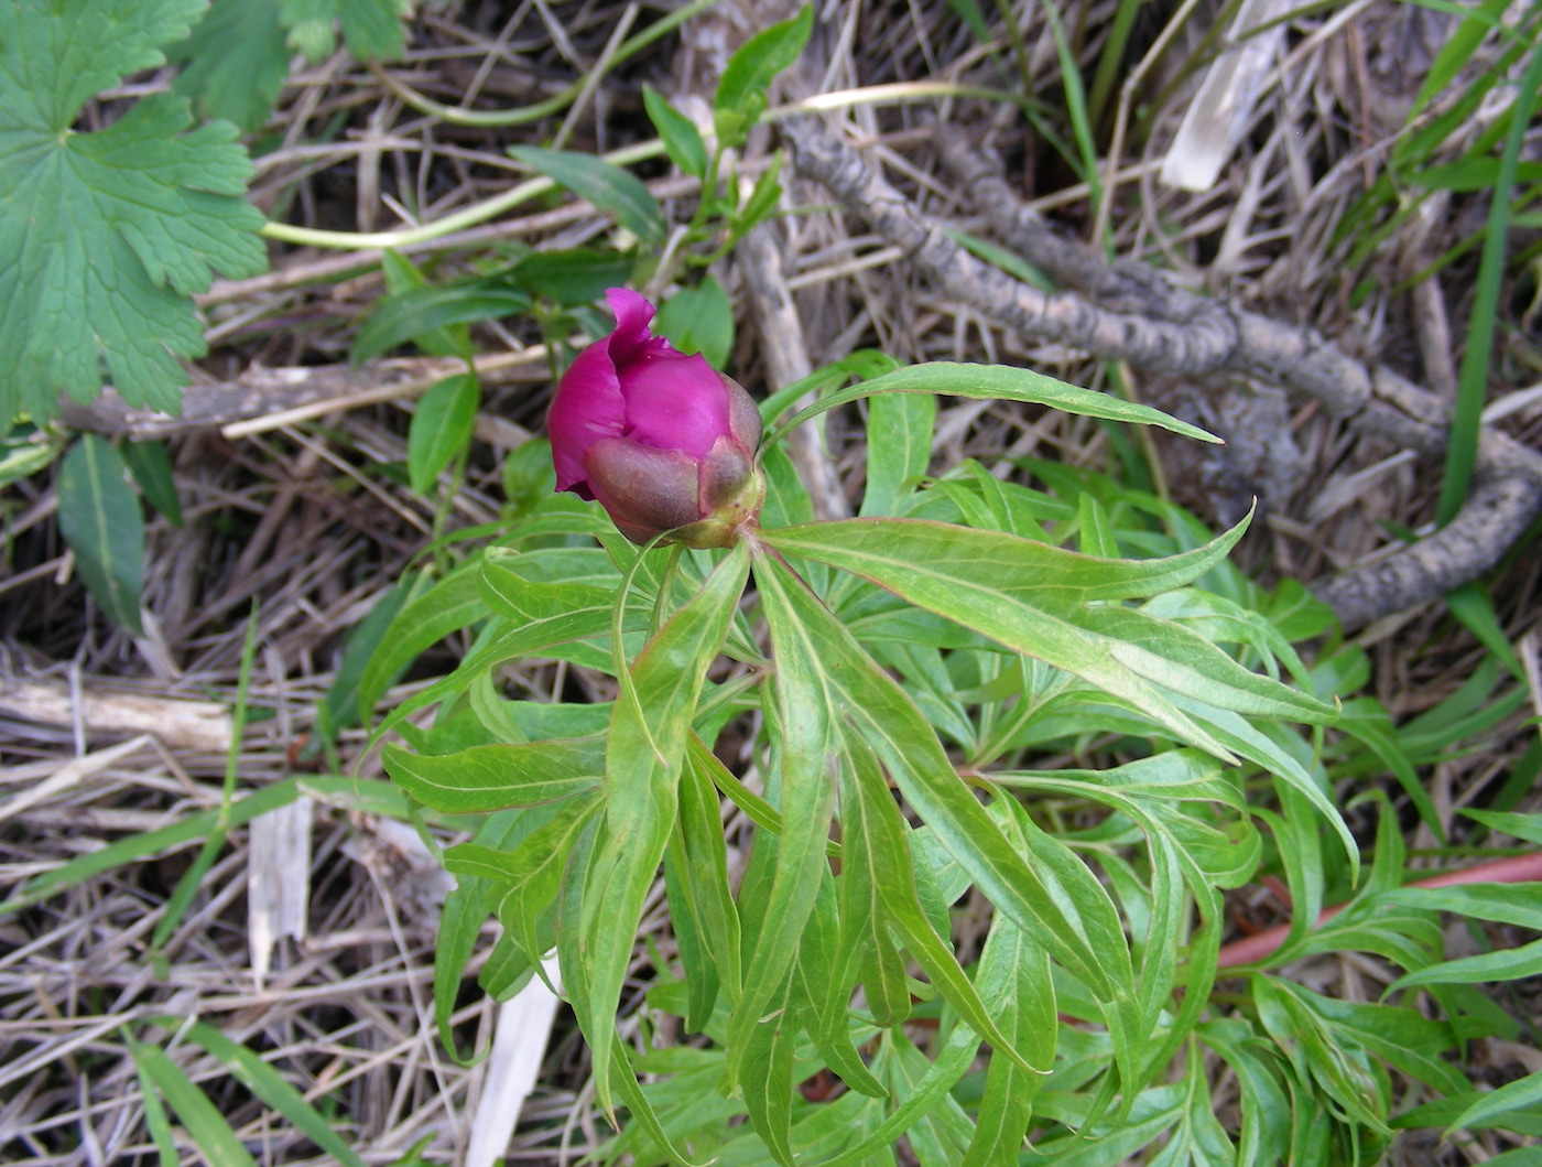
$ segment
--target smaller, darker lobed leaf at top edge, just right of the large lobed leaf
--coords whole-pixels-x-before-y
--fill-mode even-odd
[[[167,57],[182,65],[173,93],[200,114],[262,128],[288,77],[278,0],[217,0]]]

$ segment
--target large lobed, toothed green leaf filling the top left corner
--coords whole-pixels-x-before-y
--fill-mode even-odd
[[[103,130],[72,130],[86,99],[165,62],[200,0],[0,5],[0,425],[89,401],[100,361],[131,406],[176,412],[204,333],[190,296],[214,269],[256,275],[262,216],[234,127],[188,133],[187,102],[156,94]]]

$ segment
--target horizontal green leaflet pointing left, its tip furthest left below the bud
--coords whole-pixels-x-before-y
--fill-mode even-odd
[[[472,746],[444,756],[387,746],[384,761],[396,784],[424,806],[469,815],[592,790],[604,773],[604,738]]]

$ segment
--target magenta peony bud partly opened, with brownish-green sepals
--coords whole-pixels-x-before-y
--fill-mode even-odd
[[[606,292],[615,330],[563,374],[546,428],[557,489],[598,499],[634,543],[672,531],[732,546],[765,500],[760,411],[731,377],[648,330],[654,306]]]

